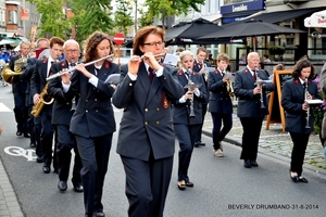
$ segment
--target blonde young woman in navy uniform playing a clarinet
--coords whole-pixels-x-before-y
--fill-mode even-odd
[[[192,71],[193,54],[186,50],[180,53],[181,71],[176,75],[179,84],[200,85],[201,87],[188,87],[184,90],[184,95],[174,102],[173,122],[174,131],[179,140],[179,164],[178,164],[178,189],[193,187],[188,177],[188,168],[191,159],[197,132],[201,127],[202,103],[208,101],[208,93],[200,74]]]

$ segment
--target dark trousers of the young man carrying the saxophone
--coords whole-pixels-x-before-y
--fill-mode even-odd
[[[43,152],[43,161],[45,161],[45,165],[50,167],[52,162],[52,144],[53,144],[54,127],[51,124],[51,116],[48,114],[48,112],[41,112],[39,117],[41,122],[40,143]],[[54,150],[55,150],[55,143],[57,142],[54,141]],[[54,161],[57,161],[55,157]]]

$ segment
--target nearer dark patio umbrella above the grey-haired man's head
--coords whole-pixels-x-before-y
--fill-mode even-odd
[[[223,31],[215,31],[210,35],[200,37],[199,39],[221,39],[221,38],[234,38],[234,37],[254,37],[272,34],[300,34],[305,33],[300,29],[288,28],[278,26],[275,24],[251,20],[244,23],[235,23],[223,26]],[[253,50],[255,50],[255,43],[253,43]]]

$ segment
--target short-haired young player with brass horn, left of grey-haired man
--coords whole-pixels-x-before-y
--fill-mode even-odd
[[[230,92],[227,89],[227,86],[233,84],[230,78],[225,76],[228,64],[229,58],[227,54],[221,53],[217,55],[216,71],[209,74],[209,112],[213,120],[213,154],[215,156],[224,156],[221,141],[233,127],[233,102],[229,95]]]

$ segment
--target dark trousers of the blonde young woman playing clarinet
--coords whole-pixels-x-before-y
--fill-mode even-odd
[[[178,181],[189,181],[188,169],[193,151],[195,140],[200,125],[175,124],[174,131],[179,140]]]

